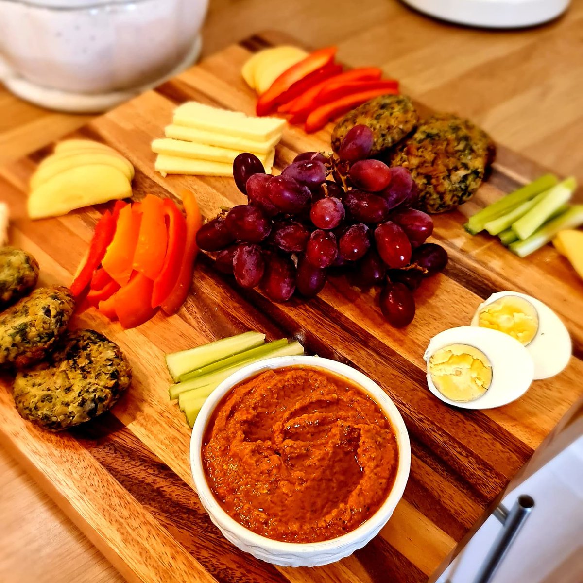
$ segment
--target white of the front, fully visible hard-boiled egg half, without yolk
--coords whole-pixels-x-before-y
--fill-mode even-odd
[[[466,344],[481,350],[492,367],[490,388],[474,401],[451,401],[438,391],[429,374],[429,359],[437,350],[452,344]],[[480,326],[460,326],[450,328],[434,336],[423,359],[426,361],[427,386],[441,401],[463,409],[491,409],[515,401],[531,386],[534,365],[528,350],[518,340],[503,332],[480,328]]]

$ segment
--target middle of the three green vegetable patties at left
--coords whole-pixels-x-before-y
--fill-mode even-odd
[[[42,359],[65,331],[75,310],[64,286],[38,287],[0,314],[0,366],[29,366]]]

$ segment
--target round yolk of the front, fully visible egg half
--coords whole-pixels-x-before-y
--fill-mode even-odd
[[[486,354],[465,344],[436,350],[431,354],[427,372],[437,390],[450,401],[473,401],[492,382],[492,367]]]

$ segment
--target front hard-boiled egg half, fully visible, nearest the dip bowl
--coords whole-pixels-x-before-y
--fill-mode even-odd
[[[479,326],[440,332],[424,360],[430,391],[465,409],[491,409],[518,399],[534,374],[532,358],[518,340]]]

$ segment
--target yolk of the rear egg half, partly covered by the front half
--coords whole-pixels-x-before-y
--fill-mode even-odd
[[[504,332],[526,346],[538,332],[539,316],[524,298],[504,296],[480,310],[478,325]]]

